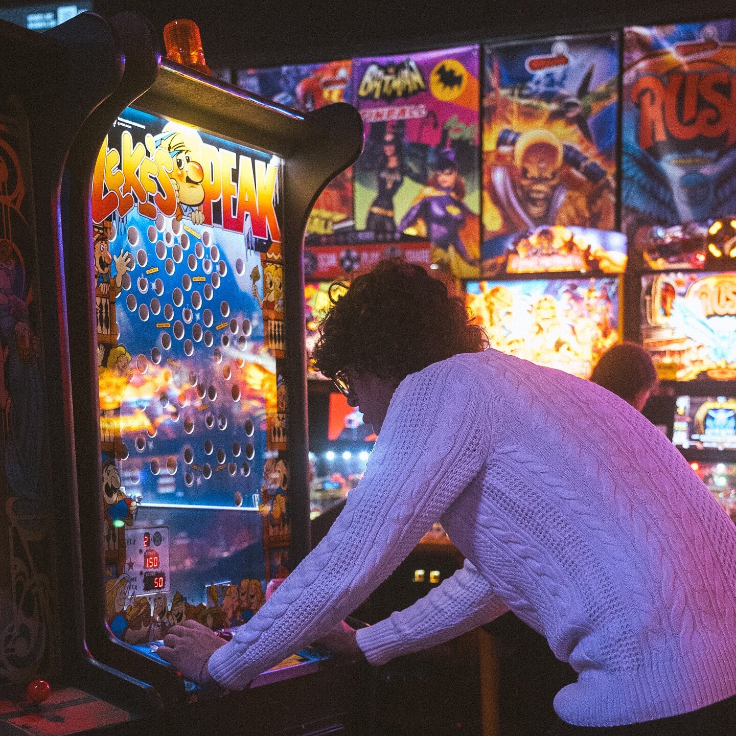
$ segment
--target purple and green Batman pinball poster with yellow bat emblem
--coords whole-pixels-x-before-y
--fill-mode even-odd
[[[376,240],[426,238],[457,277],[478,277],[480,49],[353,60],[366,144],[355,165],[355,227]]]

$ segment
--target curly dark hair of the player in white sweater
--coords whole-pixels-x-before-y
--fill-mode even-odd
[[[335,299],[330,293],[333,307],[312,351],[314,368],[330,378],[351,368],[402,381],[451,355],[488,346],[462,300],[448,296],[445,284],[421,266],[386,258],[341,286],[347,293]]]

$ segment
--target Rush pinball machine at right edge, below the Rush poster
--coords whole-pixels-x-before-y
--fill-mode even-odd
[[[736,258],[736,220],[656,227],[641,242],[657,269],[640,276],[641,340],[660,382],[646,413],[736,520],[736,272],[715,270]]]

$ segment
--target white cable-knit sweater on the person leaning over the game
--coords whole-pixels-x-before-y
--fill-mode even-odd
[[[507,609],[578,671],[555,709],[615,726],[736,694],[736,527],[653,425],[600,386],[495,350],[394,393],[330,532],[219,648],[244,687],[355,609],[440,520],[468,562],[358,631],[378,665]]]

